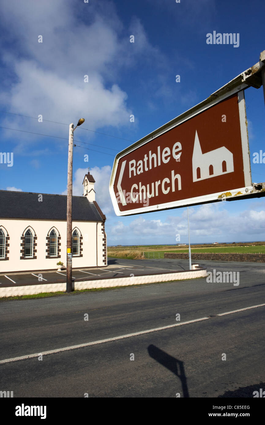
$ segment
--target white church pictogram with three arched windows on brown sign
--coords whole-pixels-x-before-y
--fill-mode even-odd
[[[233,172],[233,153],[225,146],[210,150],[210,152],[202,153],[196,130],[192,155],[193,181],[204,180],[205,178],[221,176],[222,174]]]

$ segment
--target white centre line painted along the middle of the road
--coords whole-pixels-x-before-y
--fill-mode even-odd
[[[244,310],[255,309],[256,307],[263,307],[263,306],[265,306],[265,304],[259,304],[257,306],[245,307],[244,309],[234,310],[232,312],[220,313],[220,314],[217,314],[217,316],[223,316],[225,314],[242,312]],[[57,348],[55,350],[42,351],[41,354],[46,355],[46,354],[60,353],[61,351],[69,351],[69,350],[74,350],[76,348],[94,346],[94,345],[97,345],[97,344],[102,344],[102,343],[106,343],[106,342],[110,342],[110,341],[123,340],[125,338],[136,337],[138,335],[148,334],[150,332],[162,331],[163,329],[170,329],[170,328],[175,328],[177,326],[188,325],[190,323],[201,322],[202,320],[208,320],[209,318],[210,317],[201,317],[200,319],[188,320],[188,322],[174,323],[174,325],[168,325],[168,326],[162,326],[160,328],[148,329],[147,331],[134,332],[133,334],[121,335],[120,337],[106,338],[105,340],[92,341],[91,343],[84,343],[84,344],[78,344],[78,345],[74,345],[74,346]],[[40,355],[40,352],[34,353],[34,354],[28,354],[26,356],[11,357],[10,359],[0,360],[0,364],[15,362],[17,360],[31,359],[32,357],[38,357],[39,355]]]

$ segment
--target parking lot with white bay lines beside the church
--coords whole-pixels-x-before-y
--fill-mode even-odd
[[[154,275],[180,271],[188,267],[180,266],[176,260],[123,260],[108,258],[107,267],[87,267],[73,269],[72,278],[77,281],[128,277],[132,274]],[[0,273],[0,286],[23,286],[43,283],[66,282],[66,269],[58,271],[35,271],[23,273]]]

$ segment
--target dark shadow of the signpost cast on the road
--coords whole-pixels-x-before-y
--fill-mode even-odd
[[[150,357],[160,363],[160,365],[164,366],[173,372],[178,378],[180,378],[183,397],[189,397],[187,378],[185,377],[184,371],[184,363],[181,360],[175,359],[175,357],[165,353],[165,351],[160,350],[160,348],[157,348],[153,344],[148,346],[148,354]]]

